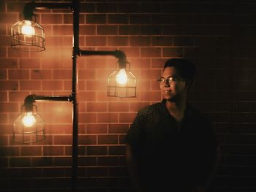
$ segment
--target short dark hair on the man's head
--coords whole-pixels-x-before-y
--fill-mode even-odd
[[[170,58],[165,62],[163,70],[168,66],[173,66],[177,70],[179,77],[188,80],[192,84],[196,71],[195,64],[192,61],[184,58]]]

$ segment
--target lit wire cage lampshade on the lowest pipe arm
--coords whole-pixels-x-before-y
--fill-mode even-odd
[[[23,105],[21,115],[13,123],[12,137],[18,143],[38,142],[45,139],[45,120],[37,113],[37,106],[27,110]]]

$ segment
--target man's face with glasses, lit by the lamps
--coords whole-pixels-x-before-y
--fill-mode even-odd
[[[160,88],[163,99],[175,102],[185,98],[187,94],[186,81],[178,76],[173,66],[165,68],[162,72],[162,80],[164,81],[160,82]]]

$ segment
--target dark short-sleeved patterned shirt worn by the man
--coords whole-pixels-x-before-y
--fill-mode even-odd
[[[140,183],[146,191],[189,191],[211,174],[217,141],[211,122],[187,104],[178,128],[166,100],[138,112],[126,142],[138,162]]]

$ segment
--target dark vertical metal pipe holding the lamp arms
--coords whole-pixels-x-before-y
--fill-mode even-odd
[[[72,192],[78,188],[78,103],[77,103],[77,56],[79,52],[79,0],[72,0],[73,8],[73,51],[72,51]]]

